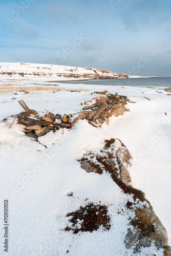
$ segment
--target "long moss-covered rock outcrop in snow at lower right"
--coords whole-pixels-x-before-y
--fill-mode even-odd
[[[126,204],[127,208],[135,212],[135,218],[130,220],[126,231],[126,248],[133,248],[136,253],[141,252],[142,247],[149,247],[153,243],[157,249],[163,248],[164,255],[169,256],[171,248],[167,246],[166,229],[156,216],[151,203],[145,198],[145,194],[130,185],[131,177],[127,169],[130,158],[130,152],[125,145],[119,139],[111,139],[105,140],[104,147],[98,153],[88,152],[80,161],[81,168],[86,172],[110,173],[111,178],[124,193],[133,195],[134,203],[128,201]]]

